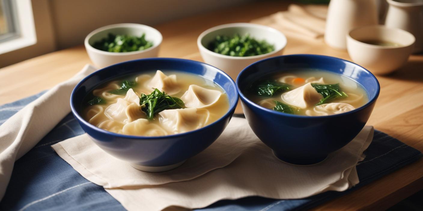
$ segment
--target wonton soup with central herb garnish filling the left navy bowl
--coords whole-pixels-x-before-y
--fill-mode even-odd
[[[84,100],[82,116],[125,135],[185,133],[220,119],[229,109],[223,89],[202,76],[160,70],[100,85]]]

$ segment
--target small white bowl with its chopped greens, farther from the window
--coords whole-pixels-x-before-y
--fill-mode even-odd
[[[212,27],[197,39],[203,60],[225,71],[234,80],[251,63],[281,55],[286,43],[282,32],[251,23]]]

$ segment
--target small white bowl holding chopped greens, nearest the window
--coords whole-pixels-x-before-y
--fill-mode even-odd
[[[109,33],[113,33],[115,35],[135,35],[138,37],[143,35],[143,33],[146,33],[146,40],[152,41],[153,46],[145,50],[131,52],[108,52],[95,49],[92,46],[96,41],[106,38]],[[160,44],[162,44],[162,39],[162,34],[153,27],[143,24],[128,23],[113,24],[98,28],[87,35],[84,44],[88,56],[94,65],[98,68],[104,68],[128,60],[157,57],[159,54]]]

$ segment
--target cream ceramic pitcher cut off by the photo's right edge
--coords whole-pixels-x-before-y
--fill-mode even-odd
[[[385,19],[387,27],[399,28],[412,33],[416,42],[414,53],[423,50],[423,0],[387,0]]]

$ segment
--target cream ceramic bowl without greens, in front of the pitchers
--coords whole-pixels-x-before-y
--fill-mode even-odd
[[[377,46],[361,41],[377,40],[399,46]],[[351,59],[372,73],[383,75],[401,68],[413,51],[415,38],[405,30],[371,25],[351,30],[347,35],[347,50]]]

